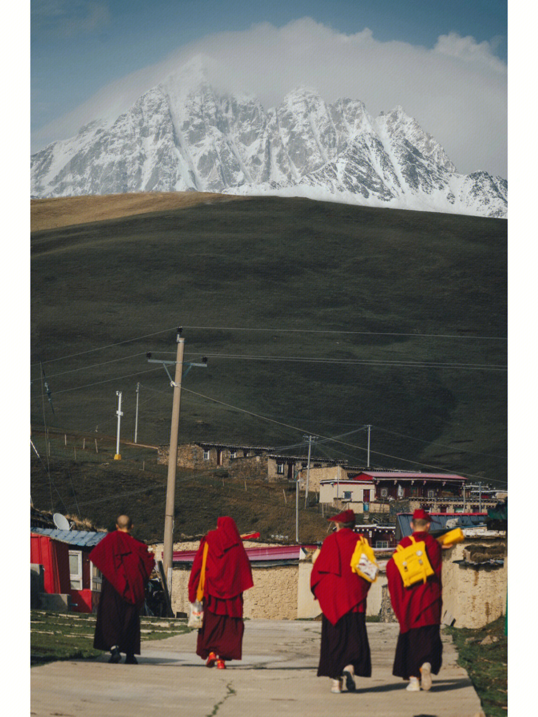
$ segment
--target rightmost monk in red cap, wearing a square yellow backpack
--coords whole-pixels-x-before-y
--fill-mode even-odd
[[[387,563],[387,582],[390,600],[400,622],[400,635],[392,674],[410,680],[407,690],[419,692],[432,686],[432,673],[437,675],[442,660],[441,622],[441,548],[429,534],[431,516],[422,508],[413,513],[412,534],[416,541],[424,541],[428,560],[434,574],[428,580],[405,587],[395,561]],[[400,545],[411,545],[409,537]]]

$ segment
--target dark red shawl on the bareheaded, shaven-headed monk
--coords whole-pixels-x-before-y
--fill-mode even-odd
[[[90,553],[90,560],[129,604],[141,607],[155,558],[129,533],[108,533]]]

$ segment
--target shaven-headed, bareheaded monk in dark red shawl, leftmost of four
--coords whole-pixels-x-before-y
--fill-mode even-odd
[[[140,611],[146,584],[154,569],[154,554],[130,535],[131,518],[119,516],[116,529],[90,553],[90,560],[103,573],[93,647],[110,650],[109,663],[136,665],[140,655]]]

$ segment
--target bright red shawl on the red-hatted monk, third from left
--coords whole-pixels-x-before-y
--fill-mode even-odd
[[[351,528],[341,528],[325,538],[313,564],[311,591],[332,625],[347,612],[366,612],[370,583],[351,571],[350,565],[358,539]]]

